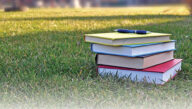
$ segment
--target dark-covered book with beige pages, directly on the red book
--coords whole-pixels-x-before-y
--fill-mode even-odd
[[[173,51],[140,57],[125,57],[116,55],[97,54],[99,65],[119,66],[134,69],[144,69],[173,59]]]

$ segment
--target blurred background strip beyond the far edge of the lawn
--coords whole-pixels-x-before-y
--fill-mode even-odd
[[[0,0],[0,7],[120,7],[179,4],[182,0]],[[191,1],[191,0],[185,0]]]

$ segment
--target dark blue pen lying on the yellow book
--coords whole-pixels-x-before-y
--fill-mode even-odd
[[[151,33],[150,31],[145,31],[145,30],[128,30],[128,29],[116,29],[114,31],[119,32],[119,33],[135,33],[135,34]]]

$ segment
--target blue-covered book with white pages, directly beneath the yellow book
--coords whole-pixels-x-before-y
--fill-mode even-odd
[[[101,54],[136,57],[166,51],[173,51],[175,50],[175,41],[172,40],[170,42],[122,45],[122,46],[91,44],[91,50],[92,52]]]

